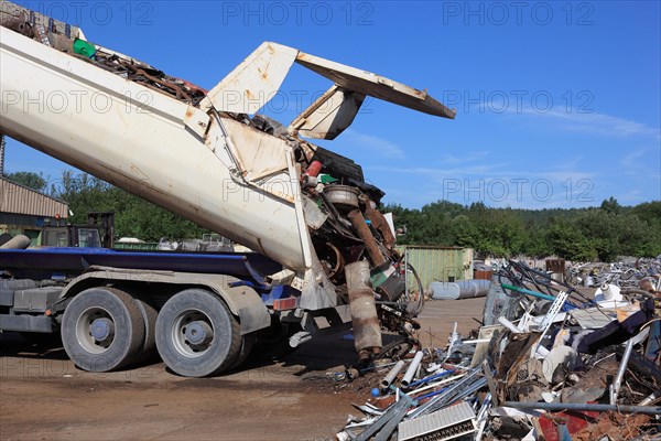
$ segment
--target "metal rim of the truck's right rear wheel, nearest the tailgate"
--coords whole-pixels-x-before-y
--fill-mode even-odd
[[[198,358],[214,344],[212,320],[199,310],[187,310],[174,320],[172,343],[176,352],[187,358]]]

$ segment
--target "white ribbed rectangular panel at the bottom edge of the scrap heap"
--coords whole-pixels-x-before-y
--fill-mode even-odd
[[[434,413],[400,422],[398,441],[452,440],[476,430],[475,411],[468,402],[464,401]]]

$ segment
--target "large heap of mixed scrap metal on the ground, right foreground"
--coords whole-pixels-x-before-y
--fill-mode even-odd
[[[510,260],[470,340],[384,348],[337,439],[658,440],[660,306],[658,273],[593,299]]]

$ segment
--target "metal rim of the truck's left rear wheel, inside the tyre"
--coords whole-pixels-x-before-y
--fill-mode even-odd
[[[102,308],[85,310],[76,322],[78,344],[91,354],[102,354],[115,341],[115,321]]]

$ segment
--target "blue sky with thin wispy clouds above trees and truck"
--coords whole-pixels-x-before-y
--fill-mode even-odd
[[[336,140],[384,201],[523,208],[661,200],[658,1],[22,1],[212,88],[262,41],[375,72],[455,120],[369,100]],[[289,123],[328,80],[294,66],[264,112]],[[302,95],[302,90],[310,95]],[[6,171],[68,168],[13,140]]]

